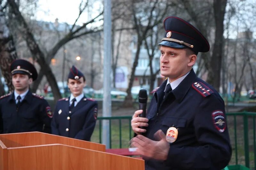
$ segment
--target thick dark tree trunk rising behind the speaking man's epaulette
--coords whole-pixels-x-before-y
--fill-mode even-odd
[[[223,55],[223,32],[224,32],[224,15],[226,9],[227,0],[214,0],[213,10],[215,18],[215,41],[213,45],[213,53],[211,58],[211,64],[209,65],[209,74],[207,81],[217,91],[220,90],[220,68]]]

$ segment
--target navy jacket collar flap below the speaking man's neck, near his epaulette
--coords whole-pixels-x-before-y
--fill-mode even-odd
[[[192,69],[188,75],[180,82],[180,84],[174,90],[172,90],[173,95],[179,103],[185,97],[191,85],[193,82],[195,82],[196,78],[196,73]]]

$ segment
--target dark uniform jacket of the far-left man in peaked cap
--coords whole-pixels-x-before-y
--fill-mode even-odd
[[[1,133],[18,133],[39,131],[51,133],[52,111],[48,102],[30,91],[21,101],[18,112],[14,93],[0,99]]]

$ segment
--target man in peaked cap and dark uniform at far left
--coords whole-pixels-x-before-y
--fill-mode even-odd
[[[10,70],[14,92],[0,97],[1,133],[51,133],[51,107],[42,96],[29,90],[29,85],[37,78],[36,68],[18,59],[12,62]]]

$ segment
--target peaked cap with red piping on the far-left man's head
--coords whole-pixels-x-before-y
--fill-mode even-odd
[[[20,73],[27,74],[29,78],[32,78],[33,81],[37,78],[37,71],[33,64],[27,60],[17,59],[11,63],[10,70],[12,75]]]

